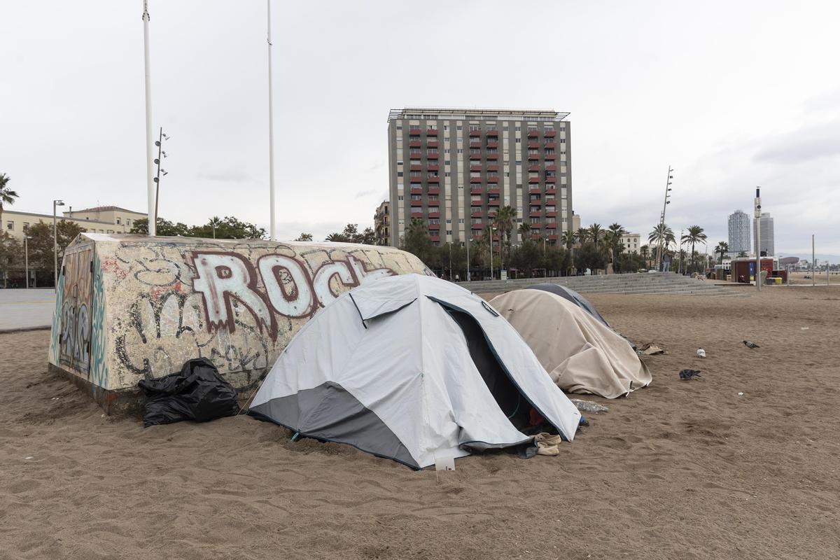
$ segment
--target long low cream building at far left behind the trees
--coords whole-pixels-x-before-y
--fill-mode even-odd
[[[62,212],[57,219],[74,222],[92,233],[129,233],[134,221],[146,216],[143,212],[132,212],[125,208],[108,206],[76,211],[70,209]],[[24,232],[30,225],[38,222],[51,224],[52,219],[52,214],[16,212],[3,208],[3,231],[14,238],[23,239]]]

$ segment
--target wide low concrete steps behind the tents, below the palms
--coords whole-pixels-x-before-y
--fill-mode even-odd
[[[517,290],[541,282],[569,286],[581,294],[666,294],[669,296],[741,296],[748,294],[715,285],[712,280],[695,280],[674,272],[649,272],[627,275],[554,276],[517,280],[479,280],[459,282],[477,294]]]

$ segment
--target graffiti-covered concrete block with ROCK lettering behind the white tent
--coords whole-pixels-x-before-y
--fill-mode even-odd
[[[200,357],[246,395],[339,294],[412,272],[430,274],[391,247],[82,233],[61,266],[50,368],[109,412]]]

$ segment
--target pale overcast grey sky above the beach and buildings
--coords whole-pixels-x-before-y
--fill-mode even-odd
[[[145,210],[142,2],[8,3],[0,172],[15,209]],[[268,223],[265,2],[150,1],[161,215]],[[754,186],[777,252],[840,254],[840,3],[273,4],[280,238],[372,222],[391,107],[571,113],[574,209],[726,239]]]

